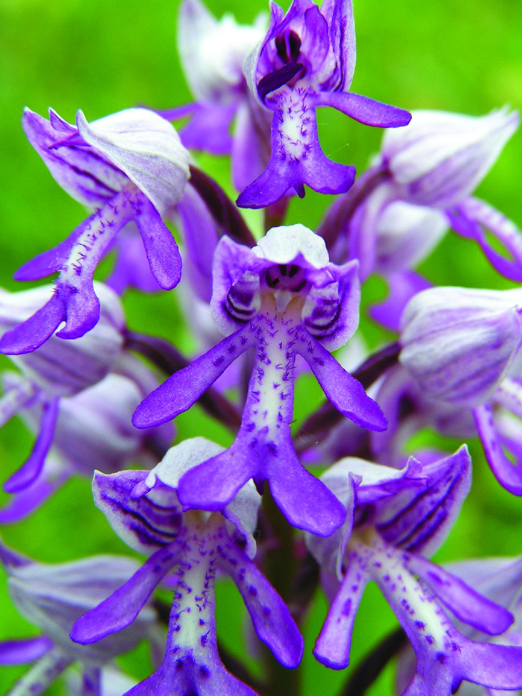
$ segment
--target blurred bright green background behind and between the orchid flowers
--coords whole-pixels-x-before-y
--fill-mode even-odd
[[[14,290],[13,271],[35,253],[54,246],[84,219],[80,205],[58,188],[42,161],[26,142],[20,127],[24,105],[45,113],[52,105],[73,121],[81,108],[89,120],[136,104],[167,108],[190,100],[176,52],[177,2],[153,0],[0,0],[0,221],[1,284]],[[251,22],[266,10],[262,0],[213,0],[219,17],[232,12]],[[522,107],[522,3],[519,0],[356,0],[358,58],[353,89],[407,109],[443,109],[480,115],[497,106]],[[359,171],[379,148],[381,133],[363,127],[333,110],[319,114],[319,134],[329,157]],[[230,189],[226,159],[200,157],[198,162]],[[479,195],[518,223],[522,221],[520,181],[522,137],[510,141]],[[308,192],[292,201],[289,222],[314,228],[328,203],[327,196]],[[253,223],[258,221],[251,215]],[[498,278],[470,242],[448,235],[421,271],[440,285],[512,287]],[[374,278],[363,287],[363,307],[384,294]],[[157,333],[190,347],[180,327],[175,292],[125,298],[129,325]],[[386,335],[361,318],[359,333],[368,347]],[[181,338],[180,338],[181,337]],[[8,367],[6,359],[1,367]],[[303,398],[306,395],[306,398]],[[302,419],[320,400],[317,386],[303,379],[297,388],[296,410]],[[178,418],[178,439],[205,432],[223,444],[230,436],[198,409]],[[434,441],[429,433],[420,441]],[[446,442],[448,448],[460,443]],[[1,480],[15,470],[31,448],[19,422],[0,432]],[[522,550],[521,501],[501,490],[485,466],[477,443],[470,443],[474,480],[459,521],[436,560],[509,555]],[[5,497],[5,496],[4,496]],[[4,498],[1,498],[3,501]],[[8,544],[45,562],[73,560],[93,553],[128,553],[104,517],[93,507],[90,484],[72,480],[30,519],[2,530]],[[0,578],[0,640],[37,633],[11,608],[6,583]],[[230,585],[219,587],[218,631],[234,654],[244,654],[244,610]],[[321,595],[305,624],[306,656],[303,693],[333,695],[348,671],[333,672],[313,659],[311,650],[322,625],[326,603]],[[377,588],[370,587],[358,613],[352,664],[395,626],[395,619]],[[145,646],[122,659],[129,674],[143,679],[150,670]],[[0,672],[0,693],[24,668]],[[393,672],[386,670],[371,690],[392,693]],[[65,693],[57,686],[49,693]]]

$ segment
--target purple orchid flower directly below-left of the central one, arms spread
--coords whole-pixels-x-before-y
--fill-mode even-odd
[[[182,512],[176,492],[180,477],[221,449],[205,438],[193,438],[168,450],[152,472],[95,474],[97,507],[125,543],[150,557],[125,585],[77,621],[72,640],[92,644],[129,626],[161,580],[174,590],[164,661],[129,694],[254,694],[219,658],[213,611],[217,570],[232,577],[255,631],[278,661],[290,668],[301,661],[303,639],[251,560],[260,504],[253,484],[239,491],[223,515]],[[236,543],[237,531],[246,540],[245,551]]]

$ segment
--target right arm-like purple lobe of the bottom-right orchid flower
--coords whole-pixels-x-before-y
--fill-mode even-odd
[[[457,619],[464,623],[490,635],[504,633],[513,623],[512,613],[503,606],[486,599],[463,580],[422,556],[411,556],[408,566],[431,587],[438,599]]]

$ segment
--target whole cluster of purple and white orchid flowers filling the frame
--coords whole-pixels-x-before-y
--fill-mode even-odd
[[[0,544],[13,603],[40,630],[0,643],[1,663],[33,663],[10,694],[56,679],[84,696],[283,693],[317,587],[329,608],[313,656],[344,670],[370,580],[401,626],[387,656],[400,650],[397,693],[521,690],[521,560],[429,560],[472,463],[466,444],[421,450],[411,438],[425,427],[459,443],[478,436],[500,485],[522,496],[522,290],[434,287],[416,270],[452,229],[522,280],[522,235],[473,196],[518,114],[409,113],[352,93],[351,0],[293,0],[287,13],[271,3],[252,26],[183,0],[179,26],[192,103],[91,122],[78,111],[74,125],[24,112],[27,139],[88,217],[15,274],[57,273],[53,287],[0,291],[0,352],[15,365],[1,372],[0,425],[19,415],[34,435],[3,477],[0,523],[29,516],[70,477],[92,478],[95,507],[145,558],[43,564]],[[322,151],[322,106],[384,129],[357,178]],[[230,155],[235,203],[195,150]],[[316,231],[284,224],[305,184],[338,194]],[[264,209],[264,230],[242,208]],[[111,252],[112,271],[95,281]],[[352,337],[370,274],[390,289],[370,313],[396,340],[367,356]],[[135,330],[131,286],[173,290],[195,356],[176,327],[172,342]],[[303,373],[326,399],[292,428]],[[228,447],[203,436],[196,403],[228,428]],[[174,444],[185,411],[196,436]],[[222,576],[250,616],[262,677],[221,645]],[[138,681],[116,658],[141,641],[153,664]],[[367,660],[372,678],[387,661]],[[285,688],[297,694],[298,681]]]

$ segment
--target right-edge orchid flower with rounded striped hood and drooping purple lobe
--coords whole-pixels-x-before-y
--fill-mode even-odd
[[[420,292],[402,315],[400,361],[432,400],[472,409],[491,470],[522,495],[522,452],[506,414],[522,417],[520,290],[438,287]]]

